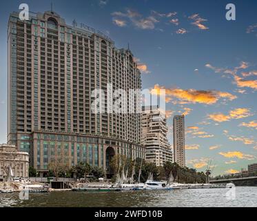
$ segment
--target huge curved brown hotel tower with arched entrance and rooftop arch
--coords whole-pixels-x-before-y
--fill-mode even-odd
[[[141,90],[130,50],[83,24],[68,26],[52,11],[30,12],[28,21],[10,15],[8,143],[27,151],[41,175],[50,163],[87,162],[108,174],[115,154],[145,158],[141,114],[111,114],[107,102],[104,113],[92,113],[92,90],[106,92],[107,84]]]

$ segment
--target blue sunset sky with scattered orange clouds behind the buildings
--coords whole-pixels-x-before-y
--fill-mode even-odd
[[[1,1],[0,143],[7,128],[7,23],[27,3],[50,10],[51,1]],[[236,21],[227,21],[227,3]],[[66,23],[101,30],[117,48],[130,44],[143,88],[166,89],[169,142],[172,118],[185,115],[187,166],[230,174],[257,162],[257,2],[251,0],[52,0]]]

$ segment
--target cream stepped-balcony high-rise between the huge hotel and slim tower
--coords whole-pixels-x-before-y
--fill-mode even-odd
[[[165,115],[161,113],[158,106],[143,106],[142,141],[145,146],[145,159],[156,166],[173,162],[167,132]]]

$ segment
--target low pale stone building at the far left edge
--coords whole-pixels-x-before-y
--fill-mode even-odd
[[[6,177],[8,167],[11,167],[14,177],[28,177],[29,155],[18,151],[16,146],[0,145],[0,176]]]

